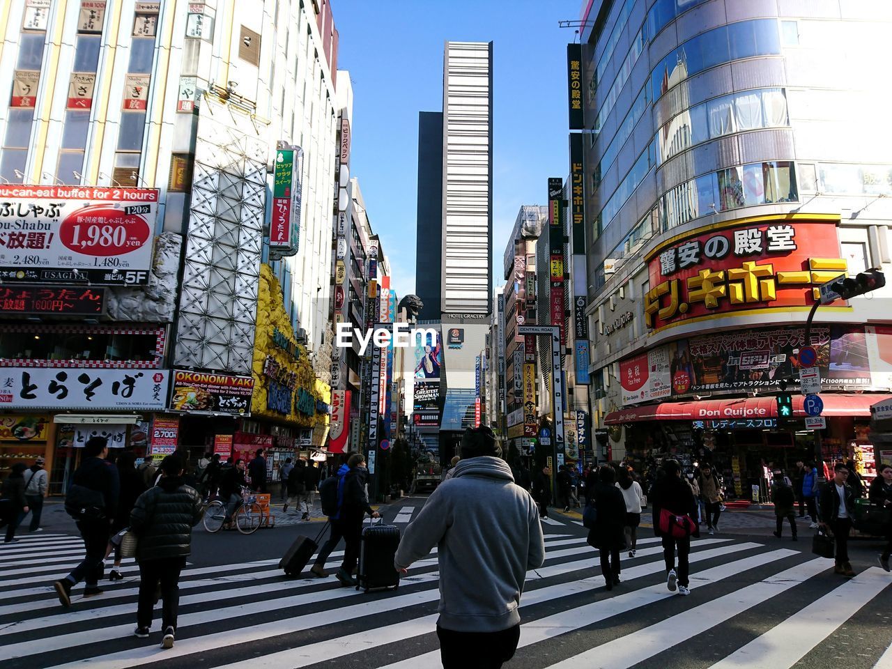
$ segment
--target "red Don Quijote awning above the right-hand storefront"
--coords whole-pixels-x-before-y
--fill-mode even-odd
[[[871,415],[871,405],[888,400],[892,395],[865,393],[849,395],[822,392],[824,402],[822,416],[863,416]],[[803,395],[793,395],[793,415],[805,416]],[[727,400],[698,400],[686,402],[662,402],[644,407],[629,407],[607,414],[605,425],[640,423],[644,420],[704,420],[727,418],[776,418],[777,402],[773,395],[764,397],[742,397]]]

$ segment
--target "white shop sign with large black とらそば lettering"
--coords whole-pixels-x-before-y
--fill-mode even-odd
[[[0,409],[163,409],[166,369],[4,368]]]

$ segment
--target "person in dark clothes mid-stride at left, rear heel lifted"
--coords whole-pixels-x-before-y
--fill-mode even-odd
[[[65,497],[65,510],[75,518],[86,555],[70,574],[53,584],[63,607],[70,607],[71,589],[81,581],[85,582],[85,598],[103,593],[99,579],[103,577],[103,558],[120,491],[118,469],[106,459],[108,454],[105,437],[90,437]]]

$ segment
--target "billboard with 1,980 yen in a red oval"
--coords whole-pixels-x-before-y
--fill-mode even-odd
[[[153,188],[0,186],[0,280],[147,284],[157,213]]]

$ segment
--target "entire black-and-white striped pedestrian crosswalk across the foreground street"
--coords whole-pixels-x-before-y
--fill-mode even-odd
[[[546,563],[527,574],[520,643],[509,666],[665,669],[684,665],[681,657],[706,644],[708,652],[698,655],[704,667],[789,669],[808,663],[865,611],[884,616],[880,629],[892,622],[892,579],[879,568],[845,581],[832,574],[832,561],[789,544],[708,537],[692,544],[691,595],[679,597],[665,587],[659,540],[645,537],[636,557],[624,559],[622,583],[607,591],[584,536],[567,525],[566,532],[545,529]],[[103,582],[103,595],[81,599],[78,588],[69,609],[59,606],[50,583],[81,551],[76,538],[62,534],[27,537],[0,551],[0,666],[439,666],[435,554],[412,566],[397,591],[368,594],[338,587],[332,576],[285,579],[278,558],[187,566],[177,643],[162,650],[158,640],[132,635],[135,566],[128,579]],[[342,555],[333,553],[326,567]],[[158,617],[156,610],[156,635]],[[870,664],[862,665],[885,669],[892,632],[863,636],[856,650]]]

